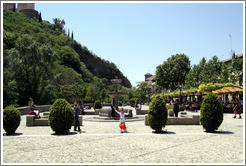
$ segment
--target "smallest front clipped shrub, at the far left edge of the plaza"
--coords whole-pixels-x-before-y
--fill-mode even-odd
[[[3,110],[3,128],[7,135],[13,135],[21,121],[20,111],[14,106],[8,106]]]

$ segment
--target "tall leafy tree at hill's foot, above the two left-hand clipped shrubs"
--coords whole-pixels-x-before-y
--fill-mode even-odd
[[[39,103],[42,86],[49,79],[55,54],[49,45],[38,45],[29,35],[22,35],[10,51],[12,69],[17,83],[19,104],[26,105],[32,97]]]

